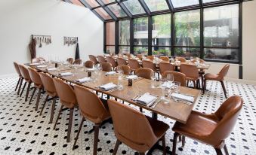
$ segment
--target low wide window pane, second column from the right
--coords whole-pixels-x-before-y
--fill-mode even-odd
[[[190,59],[190,56],[200,56],[199,48],[188,48],[188,47],[176,47],[175,56],[184,56],[187,59]]]

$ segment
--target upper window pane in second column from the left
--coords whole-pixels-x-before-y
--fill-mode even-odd
[[[130,20],[119,21],[119,44],[130,44]]]

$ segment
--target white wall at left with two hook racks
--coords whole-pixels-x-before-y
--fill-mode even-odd
[[[37,48],[37,56],[75,56],[76,45],[64,46],[63,36],[79,37],[80,56],[103,53],[103,22],[87,8],[60,0],[0,1],[0,76],[13,74],[14,61],[30,61],[30,36],[51,35],[52,44]]]

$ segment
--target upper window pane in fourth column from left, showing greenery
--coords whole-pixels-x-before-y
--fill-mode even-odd
[[[171,14],[152,17],[152,45],[171,46]]]

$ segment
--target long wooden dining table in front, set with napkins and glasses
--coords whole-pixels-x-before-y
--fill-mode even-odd
[[[138,95],[143,95],[144,93],[150,93],[160,98],[162,96],[162,89],[159,87],[152,88],[151,80],[138,78],[133,81],[132,86],[128,86],[128,80],[122,78],[121,83],[123,85],[123,89],[119,90],[109,90],[104,91],[99,89],[99,86],[103,84],[108,84],[112,82],[113,84],[118,84],[120,80],[118,80],[119,75],[106,75],[104,74],[106,71],[92,71],[93,81],[79,83],[76,80],[88,77],[88,68],[84,66],[68,66],[68,65],[60,65],[55,71],[48,71],[48,68],[54,68],[54,64],[46,63],[47,67],[37,67],[36,65],[29,65],[32,68],[37,69],[38,71],[44,71],[48,74],[51,74],[53,77],[57,77],[63,79],[63,81],[67,81],[70,84],[78,84],[82,87],[86,87],[90,90],[96,90],[97,92],[104,93],[107,96],[112,96],[116,99],[120,99],[122,101],[128,102],[131,105],[136,105],[137,107],[146,109],[148,111],[153,112],[153,117],[157,119],[157,114],[168,117],[172,120],[176,120],[180,123],[186,123],[187,119],[190,117],[190,113],[193,110],[194,105],[197,102],[197,99],[200,96],[200,90],[188,88],[188,87],[180,87],[180,93],[186,94],[189,96],[194,96],[194,102],[192,104],[187,104],[187,102],[178,102],[177,100],[171,99],[168,97],[168,103],[160,101],[154,108],[148,107],[146,105],[141,105],[137,102],[134,102],[134,97]],[[60,76],[60,73],[71,72],[70,76]],[[156,81],[155,81],[156,82]]]

